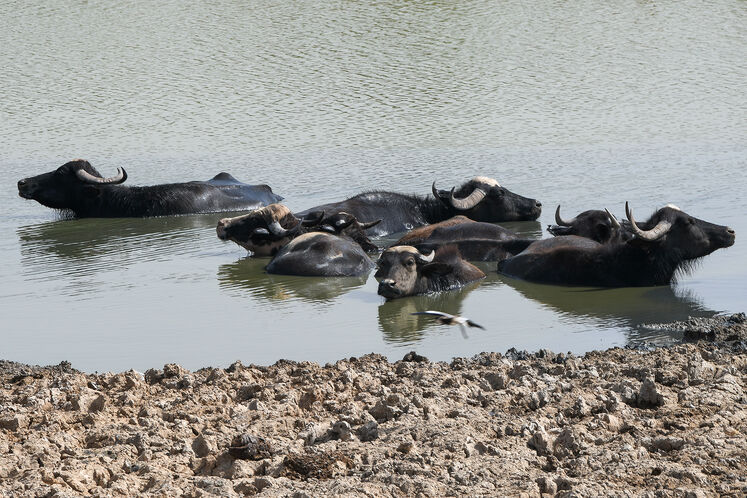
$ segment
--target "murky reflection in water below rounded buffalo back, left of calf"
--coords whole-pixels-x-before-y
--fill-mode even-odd
[[[220,286],[239,296],[268,301],[300,299],[324,303],[362,287],[368,275],[360,277],[299,277],[270,275],[264,271],[270,258],[246,257],[218,268]]]

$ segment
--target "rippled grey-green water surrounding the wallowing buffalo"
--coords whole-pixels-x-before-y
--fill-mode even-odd
[[[700,2],[0,3],[2,356],[85,370],[333,361],[416,349],[577,353],[678,338],[644,324],[744,311],[747,12]],[[85,157],[128,183],[228,171],[294,210],[477,174],[572,216],[672,202],[737,231],[672,287],[495,273],[384,302],[373,277],[267,275],[222,215],[64,220],[22,177]],[[385,244],[386,241],[381,241]],[[487,330],[409,313],[458,312]]]

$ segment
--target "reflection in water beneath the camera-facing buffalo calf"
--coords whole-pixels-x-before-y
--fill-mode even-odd
[[[480,286],[480,283],[473,282],[455,291],[403,297],[384,302],[379,306],[379,329],[384,340],[389,343],[419,342],[424,336],[423,330],[433,326],[433,318],[411,313],[435,310],[460,315],[462,302],[470,292]]]

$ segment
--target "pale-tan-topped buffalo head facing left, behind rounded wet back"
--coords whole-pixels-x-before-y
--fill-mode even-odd
[[[314,222],[317,222],[315,219]],[[216,233],[256,256],[272,256],[301,232],[302,221],[282,204],[270,204],[249,214],[223,218]]]

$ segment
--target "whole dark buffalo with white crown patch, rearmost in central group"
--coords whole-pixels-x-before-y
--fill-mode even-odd
[[[438,190],[434,182],[431,190],[433,197],[366,192],[341,202],[316,206],[297,215],[303,217],[312,211],[344,211],[359,220],[380,219],[382,222],[369,233],[384,236],[438,223],[457,214],[476,221],[498,222],[536,220],[542,212],[539,201],[514,194],[492,178],[478,176],[451,191]]]

